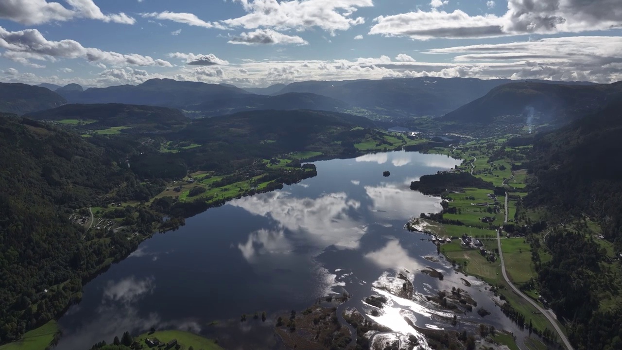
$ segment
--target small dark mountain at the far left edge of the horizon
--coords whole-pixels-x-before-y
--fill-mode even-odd
[[[18,115],[47,110],[67,103],[65,98],[44,87],[22,83],[0,83],[0,112]]]

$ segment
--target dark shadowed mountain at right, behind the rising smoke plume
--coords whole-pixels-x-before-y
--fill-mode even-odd
[[[504,116],[520,116],[518,120],[525,122],[531,116],[538,118],[539,124],[559,123],[598,110],[617,92],[622,92],[622,83],[509,83],[493,88],[484,97],[447,113],[443,121],[488,124]]]

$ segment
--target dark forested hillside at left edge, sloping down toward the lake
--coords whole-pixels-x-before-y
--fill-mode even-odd
[[[133,247],[118,235],[86,237],[69,220],[120,184],[123,200],[151,196],[112,154],[69,131],[0,116],[0,342],[57,315],[86,278]]]

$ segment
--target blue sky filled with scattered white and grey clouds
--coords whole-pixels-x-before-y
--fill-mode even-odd
[[[622,80],[621,0],[0,0],[0,81]]]

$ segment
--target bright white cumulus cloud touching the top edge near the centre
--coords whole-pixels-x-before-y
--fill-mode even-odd
[[[297,30],[319,27],[331,33],[363,24],[363,17],[353,17],[354,12],[360,7],[374,6],[372,0],[235,1],[242,4],[248,14],[223,21],[226,26]]]

